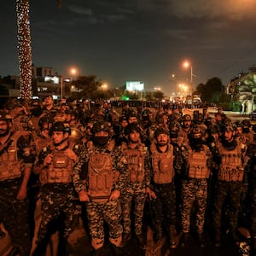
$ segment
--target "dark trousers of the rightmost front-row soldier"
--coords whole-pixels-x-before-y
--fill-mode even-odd
[[[237,227],[238,212],[241,200],[241,189],[241,182],[217,182],[212,211],[213,225],[216,230],[219,230],[221,227],[221,216],[224,203],[228,203],[230,227]],[[226,201],[227,199],[228,201]]]

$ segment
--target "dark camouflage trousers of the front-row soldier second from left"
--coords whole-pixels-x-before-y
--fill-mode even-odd
[[[74,229],[73,217],[75,214],[76,204],[73,201],[73,185],[72,184],[45,184],[41,190],[41,224],[38,230],[38,243],[43,241],[48,233],[49,223],[59,218],[61,213],[65,214],[65,228],[63,237],[65,239],[72,233]]]

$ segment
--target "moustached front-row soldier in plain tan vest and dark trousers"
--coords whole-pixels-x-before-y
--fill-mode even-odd
[[[176,193],[174,184],[173,146],[169,142],[168,131],[158,128],[154,131],[156,143],[150,146],[152,169],[154,172],[151,189],[155,196],[151,206],[154,218],[156,241],[163,238],[163,226],[169,234],[170,247],[177,247],[176,236]]]

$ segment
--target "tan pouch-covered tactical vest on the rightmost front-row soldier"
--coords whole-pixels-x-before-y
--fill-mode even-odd
[[[241,144],[233,150],[227,150],[220,145],[218,152],[221,155],[221,164],[218,172],[218,180],[227,182],[241,182],[244,170],[241,162]]]

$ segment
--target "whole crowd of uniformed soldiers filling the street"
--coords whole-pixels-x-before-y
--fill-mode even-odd
[[[152,246],[186,247],[189,236],[196,236],[205,247],[206,219],[214,247],[227,231],[238,243],[243,225],[256,255],[256,142],[250,121],[234,123],[221,108],[211,117],[207,108],[189,115],[177,105],[119,107],[56,105],[50,95],[28,106],[18,99],[3,106],[0,220],[13,245],[9,255],[44,255],[56,229],[72,255],[68,237],[79,218],[92,255],[102,255],[106,242],[122,255],[132,237],[144,250],[147,230]],[[41,222],[34,234],[36,211]],[[5,235],[1,230],[0,239]]]

